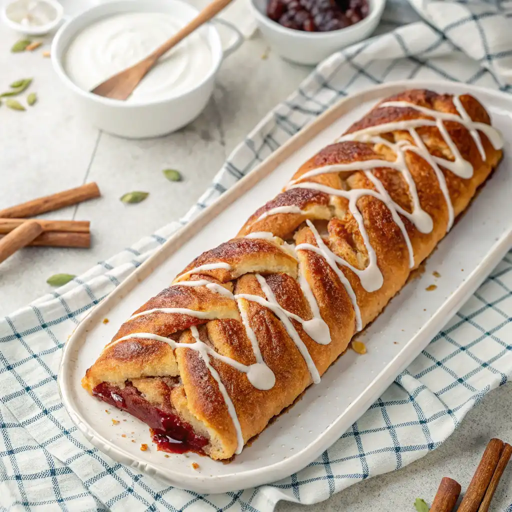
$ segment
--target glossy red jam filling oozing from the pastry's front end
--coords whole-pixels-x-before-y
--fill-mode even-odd
[[[196,434],[192,426],[176,414],[163,411],[148,402],[131,382],[126,382],[123,389],[112,386],[109,382],[102,382],[93,389],[93,395],[149,425],[158,450],[204,454],[202,448],[208,444],[206,438]]]

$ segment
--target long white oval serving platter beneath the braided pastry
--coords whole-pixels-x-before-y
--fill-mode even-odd
[[[86,369],[133,311],[166,287],[196,255],[234,236],[243,221],[274,197],[304,161],[342,134],[376,101],[410,88],[473,94],[508,141],[494,176],[428,259],[426,271],[407,284],[366,329],[362,338],[368,350],[365,355],[348,351],[340,357],[321,383],[310,387],[287,414],[229,464],[193,453],[164,457],[152,445],[144,423],[81,388]],[[92,444],[113,459],[198,493],[252,487],[301,470],[364,414],[512,247],[511,129],[512,98],[460,83],[395,82],[341,100],[167,241],[83,320],[66,344],[58,376],[72,420]],[[434,270],[441,278],[434,278]],[[425,291],[434,283],[436,290]],[[105,317],[108,324],[103,324]],[[111,414],[105,413],[105,407]],[[112,419],[121,422],[113,425]],[[141,443],[150,449],[142,452]],[[200,465],[199,470],[192,467],[193,462]]]

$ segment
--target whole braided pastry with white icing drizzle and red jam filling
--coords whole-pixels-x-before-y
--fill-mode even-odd
[[[240,453],[406,283],[501,147],[470,95],[384,100],[137,310],[83,387],[162,449]]]

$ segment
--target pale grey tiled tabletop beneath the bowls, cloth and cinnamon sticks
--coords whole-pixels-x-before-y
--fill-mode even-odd
[[[61,90],[42,50],[12,54],[17,36],[0,27],[0,89],[33,77],[38,103],[26,112],[0,108],[0,208],[96,181],[100,199],[47,214],[46,218],[90,220],[91,249],[26,248],[0,266],[0,315],[52,290],[46,279],[80,274],[143,236],[182,216],[201,195],[241,138],[309,73],[308,68],[267,54],[259,37],[244,43],[222,65],[214,97],[204,113],[178,133],[127,141],[84,124],[72,98]],[[184,180],[167,182],[164,168]],[[144,190],[150,197],[125,205],[119,197]],[[502,387],[468,413],[438,450],[400,471],[356,484],[314,506],[281,503],[280,512],[414,510],[416,497],[431,501],[443,476],[465,488],[491,437],[512,440],[512,394]],[[512,468],[504,473],[492,510],[512,502]]]

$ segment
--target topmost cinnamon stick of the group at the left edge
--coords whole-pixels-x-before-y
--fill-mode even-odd
[[[65,206],[94,199],[100,196],[99,188],[96,183],[87,183],[76,188],[70,188],[51,196],[40,197],[32,201],[27,201],[17,206],[11,206],[0,210],[0,217],[2,218],[25,218],[35,217],[39,214],[44,214],[47,211],[57,210]]]

